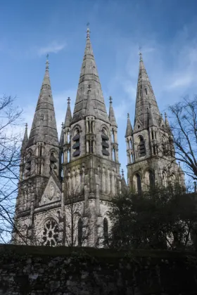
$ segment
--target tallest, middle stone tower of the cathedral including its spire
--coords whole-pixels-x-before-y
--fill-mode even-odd
[[[103,226],[108,227],[108,203],[120,192],[121,177],[112,98],[108,116],[89,29],[74,112],[72,116],[68,100],[63,133],[65,214],[66,204],[72,202],[72,195],[77,195],[82,204],[79,218],[83,230],[87,226],[94,228],[88,242],[91,246],[101,237]]]

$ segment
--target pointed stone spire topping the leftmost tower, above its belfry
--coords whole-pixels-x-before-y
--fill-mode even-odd
[[[53,107],[53,98],[51,93],[51,82],[49,79],[49,60],[47,55],[46,70],[42,87],[39,93],[37,108],[34,113],[32,129],[27,147],[37,142],[49,143],[58,146],[58,132],[56,126],[56,117]]]

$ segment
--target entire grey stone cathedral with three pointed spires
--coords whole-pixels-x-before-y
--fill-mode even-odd
[[[127,181],[120,175],[113,101],[107,112],[87,29],[75,108],[72,114],[68,98],[60,140],[46,60],[30,136],[26,126],[21,147],[13,242],[103,247],[113,196],[169,180],[184,185],[184,173],[172,161],[170,125],[160,114],[141,53],[134,126],[127,114],[125,140]]]

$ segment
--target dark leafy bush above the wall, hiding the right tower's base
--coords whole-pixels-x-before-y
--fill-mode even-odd
[[[124,249],[196,248],[196,194],[179,185],[125,192],[113,199],[109,247]],[[192,239],[191,239],[192,238]]]

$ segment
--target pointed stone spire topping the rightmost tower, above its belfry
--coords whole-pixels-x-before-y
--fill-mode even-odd
[[[136,109],[135,109],[135,119],[134,119],[134,132],[141,129],[146,129],[149,125],[149,107],[152,107],[151,116],[153,124],[158,124],[160,118],[160,112],[158,109],[158,104],[153,93],[151,82],[148,78],[146,72],[144,61],[142,59],[141,53],[139,53],[139,76],[137,83],[137,93],[136,93]]]

